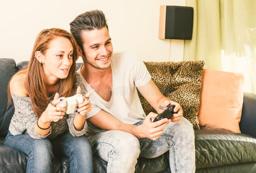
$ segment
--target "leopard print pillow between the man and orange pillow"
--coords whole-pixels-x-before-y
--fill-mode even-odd
[[[179,103],[183,116],[200,129],[197,118],[204,61],[181,62],[144,62],[152,80],[165,97]],[[156,113],[147,100],[139,94],[140,102],[146,115]]]

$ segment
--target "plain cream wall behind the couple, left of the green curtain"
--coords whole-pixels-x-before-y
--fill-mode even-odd
[[[114,51],[131,51],[145,61],[182,61],[182,40],[172,40],[170,46],[170,40],[158,39],[160,5],[185,6],[185,0],[4,1],[0,10],[0,58],[12,58],[16,63],[29,60],[42,29],[69,31],[68,24],[77,15],[99,9],[106,14]],[[81,58],[78,61],[82,62]]]

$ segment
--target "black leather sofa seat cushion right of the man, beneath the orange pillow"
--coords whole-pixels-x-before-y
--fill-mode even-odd
[[[256,138],[223,129],[195,130],[196,169],[256,162]]]

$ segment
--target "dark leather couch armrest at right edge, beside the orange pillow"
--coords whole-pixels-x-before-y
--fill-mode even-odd
[[[242,117],[239,127],[242,133],[256,137],[256,94],[244,92]]]

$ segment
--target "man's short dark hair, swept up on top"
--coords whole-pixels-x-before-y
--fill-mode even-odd
[[[81,32],[83,30],[91,31],[103,27],[107,27],[108,29],[105,14],[100,10],[92,10],[80,14],[69,25],[70,32],[75,37],[77,45],[82,49],[83,53],[83,40],[81,38]]]

